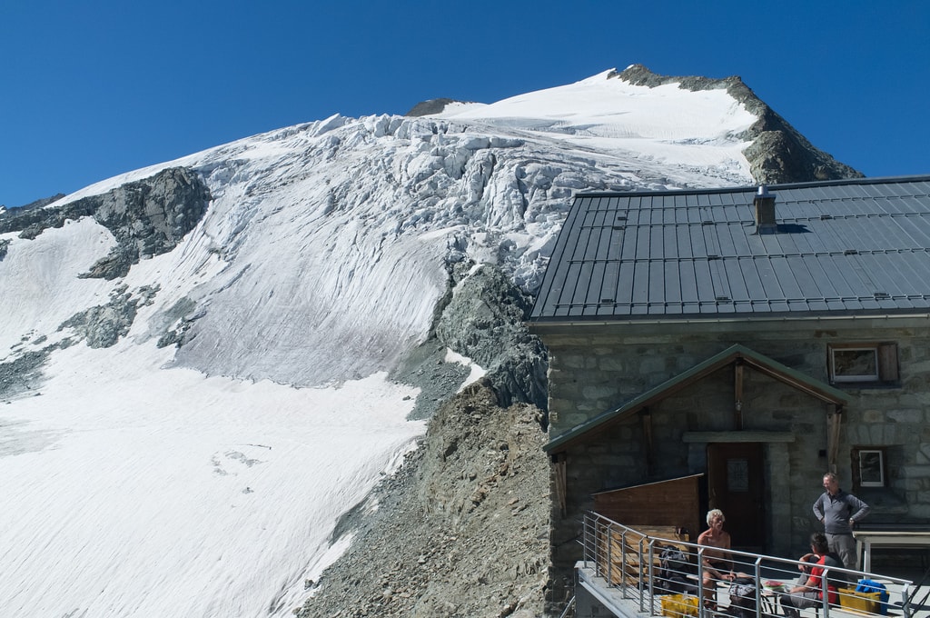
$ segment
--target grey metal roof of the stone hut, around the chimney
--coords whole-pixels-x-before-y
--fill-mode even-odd
[[[930,176],[578,194],[531,322],[930,309]]]

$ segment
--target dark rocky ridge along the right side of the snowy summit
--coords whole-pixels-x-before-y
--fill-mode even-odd
[[[745,139],[752,141],[743,151],[750,162],[752,178],[759,183],[830,181],[844,178],[862,178],[864,175],[832,156],[818,150],[804,136],[768,105],[761,101],[751,88],[737,76],[724,79],[709,77],[672,77],[654,74],[642,64],[633,64],[617,77],[635,86],[657,87],[678,84],[687,90],[725,89],[730,96],[743,103],[759,120],[746,132]]]

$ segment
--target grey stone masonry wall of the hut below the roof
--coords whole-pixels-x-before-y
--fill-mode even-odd
[[[930,521],[930,329],[918,318],[731,322],[535,329],[550,352],[550,437],[615,410],[632,397],[740,343],[810,379],[829,383],[829,343],[897,343],[899,383],[837,386],[849,396],[837,458],[841,485],[873,506],[873,522]],[[655,465],[646,465],[638,417],[591,432],[565,451],[566,512],[553,503],[555,574],[580,558],[578,517],[591,508],[591,493],[650,480],[706,471],[707,441],[693,436],[733,432],[732,366],[650,407]],[[811,505],[828,469],[827,406],[814,396],[747,368],[743,383],[743,432],[763,443],[766,550],[802,553],[819,530]],[[726,434],[732,436],[732,434]],[[725,438],[721,441],[724,441]],[[851,453],[886,449],[887,487],[855,488]],[[554,479],[552,485],[554,495]],[[703,517],[701,517],[703,520]],[[566,570],[566,571],[561,571]]]

